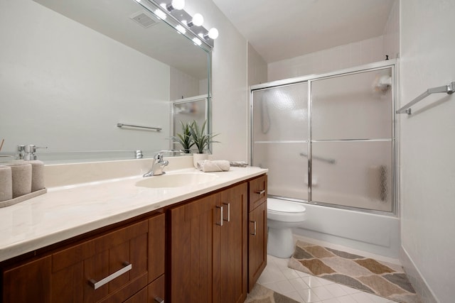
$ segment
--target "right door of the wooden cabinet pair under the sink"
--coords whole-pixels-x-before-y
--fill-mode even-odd
[[[247,297],[247,183],[220,193],[223,226],[215,226],[213,293],[215,303],[242,303]]]

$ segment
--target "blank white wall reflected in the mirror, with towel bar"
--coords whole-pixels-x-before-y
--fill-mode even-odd
[[[52,152],[168,147],[168,65],[31,0],[0,1],[0,41],[4,151],[30,143]]]

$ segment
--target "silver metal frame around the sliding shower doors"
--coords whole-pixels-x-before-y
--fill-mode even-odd
[[[392,87],[391,87],[391,94],[392,94],[392,106],[391,110],[392,112],[390,113],[392,116],[392,211],[380,211],[380,210],[375,210],[375,209],[363,209],[359,207],[353,207],[353,206],[344,206],[344,205],[339,205],[339,204],[330,204],[330,203],[323,203],[323,202],[314,202],[311,200],[311,164],[312,164],[312,159],[311,159],[311,146],[312,146],[312,138],[311,138],[311,117],[312,117],[312,97],[311,97],[311,83],[316,81],[316,80],[321,80],[321,79],[330,79],[333,77],[340,77],[343,75],[355,75],[359,74],[362,72],[371,72],[375,70],[384,70],[386,68],[390,68],[392,72]],[[254,142],[253,142],[253,93],[261,90],[266,90],[266,89],[272,89],[276,87],[285,87],[288,85],[293,85],[293,84],[301,84],[301,83],[307,83],[308,85],[308,199],[303,200],[303,199],[294,199],[294,198],[288,198],[288,197],[277,197],[277,198],[282,198],[282,199],[287,199],[290,201],[294,202],[302,202],[302,203],[309,203],[309,204],[315,204],[315,205],[321,205],[321,206],[330,206],[333,208],[338,208],[338,209],[348,209],[348,210],[354,210],[354,211],[362,211],[365,213],[370,213],[370,214],[381,214],[381,215],[386,215],[386,216],[398,216],[398,188],[399,188],[399,179],[398,179],[398,148],[397,148],[397,131],[396,131],[396,126],[397,126],[397,115],[395,113],[396,109],[396,104],[397,104],[397,60],[385,60],[385,61],[380,61],[380,62],[374,62],[370,63],[367,65],[360,65],[357,67],[349,67],[343,70],[336,70],[333,72],[326,72],[323,74],[315,74],[315,75],[308,75],[308,76],[303,76],[303,77],[294,77],[294,78],[289,78],[289,79],[283,79],[283,80],[277,80],[273,82],[267,82],[267,83],[262,83],[262,84],[256,84],[252,85],[250,87],[250,99],[249,99],[249,109],[250,109],[250,115],[248,117],[249,121],[249,153],[250,153],[250,164],[253,162],[253,155],[254,155]],[[376,141],[373,139],[373,141]]]

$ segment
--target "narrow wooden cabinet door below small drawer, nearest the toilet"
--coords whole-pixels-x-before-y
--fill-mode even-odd
[[[267,265],[267,201],[250,211],[248,292]]]

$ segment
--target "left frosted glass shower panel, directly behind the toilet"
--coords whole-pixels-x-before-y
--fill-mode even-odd
[[[308,82],[252,93],[252,165],[268,168],[268,193],[308,199]]]

